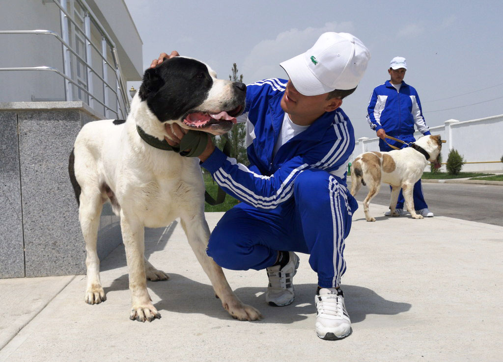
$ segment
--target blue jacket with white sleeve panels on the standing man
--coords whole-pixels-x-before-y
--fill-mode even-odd
[[[417,131],[430,135],[414,87],[402,81],[400,90],[387,80],[374,88],[367,108],[367,121],[374,131],[384,129],[387,135],[400,138],[412,136],[414,124]]]

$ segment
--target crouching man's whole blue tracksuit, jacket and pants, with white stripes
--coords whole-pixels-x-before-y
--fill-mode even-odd
[[[318,285],[337,287],[346,271],[345,238],[358,208],[346,187],[353,127],[342,109],[326,112],[273,157],[286,84],[273,78],[247,86],[248,167],[218,149],[202,163],[228,194],[243,201],[220,219],[206,253],[233,270],[270,267],[279,250],[306,253]]]

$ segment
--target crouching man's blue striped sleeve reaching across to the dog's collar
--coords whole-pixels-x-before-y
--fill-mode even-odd
[[[344,128],[345,125],[339,125]],[[249,170],[236,160],[215,151],[201,164],[213,175],[214,180],[226,193],[251,206],[263,209],[276,208],[293,196],[295,178],[310,168],[328,172],[346,167],[346,161],[353,152],[349,137],[331,138],[313,145],[303,155],[285,162],[271,176],[263,176]]]

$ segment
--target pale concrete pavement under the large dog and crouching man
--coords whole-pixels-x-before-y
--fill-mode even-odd
[[[361,205],[361,204],[360,204]],[[160,320],[129,320],[124,249],[101,265],[107,301],[83,301],[85,276],[0,280],[0,361],[39,360],[501,360],[503,227],[449,217],[413,220],[362,207],[346,240],[343,277],[353,334],[314,332],[316,275],[300,254],[296,299],[264,300],[264,271],[225,271],[264,315],[233,320],[213,296],[179,223],[146,232],[149,261],[170,274],[148,282]],[[222,213],[207,213],[213,228]]]

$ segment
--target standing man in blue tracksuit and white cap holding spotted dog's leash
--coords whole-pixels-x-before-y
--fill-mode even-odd
[[[406,71],[407,63],[405,58],[395,57],[391,59],[388,69],[390,80],[375,87],[370,96],[367,107],[367,120],[370,127],[376,131],[377,137],[380,138],[379,149],[381,151],[392,150],[384,140],[386,135],[407,143],[414,142],[414,125],[417,127],[417,131],[423,135],[431,135],[430,128],[426,125],[423,117],[421,101],[416,90],[403,81]],[[389,139],[387,142],[398,148],[407,147],[407,145]],[[433,212],[428,210],[428,205],[423,196],[421,180],[414,185],[413,198],[416,213],[424,217],[433,217]],[[401,215],[407,213],[403,210],[403,203],[404,199],[400,190],[396,211]],[[384,215],[389,216],[390,213],[390,211],[386,211]]]

